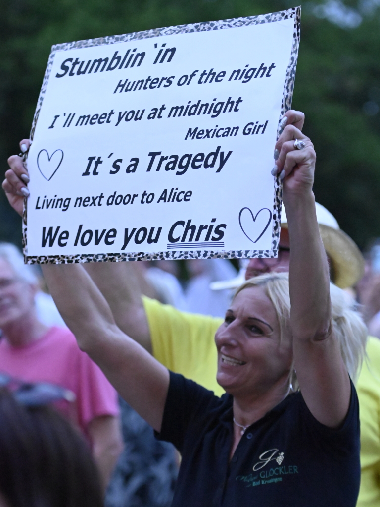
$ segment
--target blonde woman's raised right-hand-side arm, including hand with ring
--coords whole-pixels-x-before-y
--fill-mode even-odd
[[[303,117],[294,111],[285,116],[290,121],[294,115]],[[295,148],[295,139],[302,139],[305,147]],[[351,389],[332,327],[329,269],[313,194],[315,151],[310,139],[294,125],[284,128],[276,149],[290,237],[294,367],[311,413],[322,424],[337,427],[347,414]]]

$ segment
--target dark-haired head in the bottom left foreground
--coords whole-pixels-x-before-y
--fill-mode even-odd
[[[0,494],[10,507],[102,507],[98,470],[79,432],[48,406],[0,389]]]

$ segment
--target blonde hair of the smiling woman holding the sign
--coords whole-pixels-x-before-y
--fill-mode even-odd
[[[289,273],[266,273],[250,278],[237,288],[234,298],[248,287],[263,287],[277,314],[281,337],[289,329],[290,296]],[[347,371],[355,382],[365,356],[367,328],[351,296],[330,283],[331,317],[336,338]],[[290,376],[292,388],[298,389],[295,372]]]

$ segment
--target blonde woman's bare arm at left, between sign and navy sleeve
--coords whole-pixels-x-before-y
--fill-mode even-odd
[[[166,368],[119,330],[106,300],[80,264],[42,268],[79,347],[99,365],[123,399],[159,431],[169,386]]]

